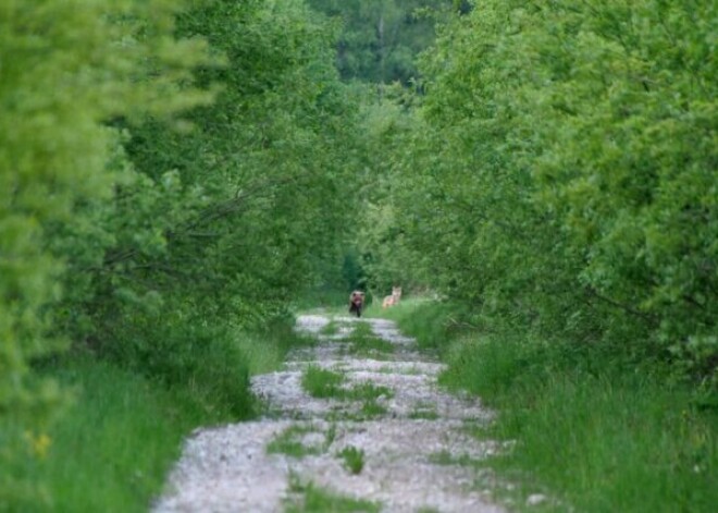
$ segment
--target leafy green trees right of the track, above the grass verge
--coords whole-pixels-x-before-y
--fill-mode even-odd
[[[484,329],[715,379],[715,21],[706,1],[482,1],[445,25],[394,152],[404,267]]]

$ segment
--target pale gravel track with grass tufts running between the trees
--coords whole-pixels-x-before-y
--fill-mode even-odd
[[[265,415],[198,430],[154,512],[503,511],[471,465],[496,443],[466,429],[491,414],[437,388],[441,363],[389,320],[311,315],[297,329],[317,345],[252,379]]]

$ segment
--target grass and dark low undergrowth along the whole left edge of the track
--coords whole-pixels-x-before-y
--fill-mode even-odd
[[[256,415],[249,376],[278,368],[292,346],[308,343],[285,323],[222,340],[207,333],[168,332],[153,341],[161,347],[137,343],[110,359],[76,351],[38,365],[73,400],[42,432],[20,433],[26,447],[1,477],[38,485],[0,499],[0,512],[147,511],[182,440],[198,426]],[[175,353],[159,358],[168,347]],[[16,430],[11,420],[0,425],[0,450]]]

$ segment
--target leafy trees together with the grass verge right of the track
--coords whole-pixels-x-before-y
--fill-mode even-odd
[[[515,508],[713,511],[715,2],[472,3],[373,118],[369,281],[443,300],[383,315],[497,410]]]

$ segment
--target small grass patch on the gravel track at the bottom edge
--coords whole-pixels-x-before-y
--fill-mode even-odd
[[[286,513],[377,513],[380,504],[368,500],[339,496],[309,483],[299,484],[293,479],[290,490],[299,497],[286,505]]]

